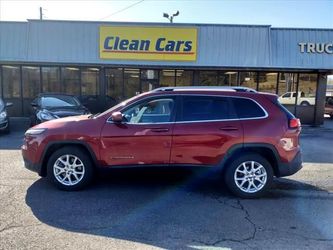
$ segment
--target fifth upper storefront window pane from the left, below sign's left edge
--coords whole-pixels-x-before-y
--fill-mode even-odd
[[[99,69],[83,68],[81,70],[81,95],[98,95]]]

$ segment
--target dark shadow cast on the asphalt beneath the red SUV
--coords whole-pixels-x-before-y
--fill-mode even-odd
[[[261,228],[268,228],[267,222],[275,225],[281,215],[274,213],[280,211],[300,219],[291,223],[303,223],[313,237],[324,238],[326,234],[308,225],[294,203],[299,197],[293,191],[318,189],[291,180],[275,180],[274,186],[262,199],[241,200],[207,170],[123,169],[99,176],[98,183],[79,192],[59,191],[39,179],[28,188],[26,204],[41,222],[56,228],[166,249],[216,242],[244,247],[260,223]],[[259,214],[255,225],[251,220]]]

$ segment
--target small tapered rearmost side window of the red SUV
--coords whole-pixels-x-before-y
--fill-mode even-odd
[[[253,100],[247,98],[232,98],[238,118],[265,117],[265,111]]]

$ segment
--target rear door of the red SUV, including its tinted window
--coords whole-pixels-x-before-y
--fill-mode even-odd
[[[170,163],[215,165],[231,145],[243,142],[243,129],[230,98],[181,97]]]

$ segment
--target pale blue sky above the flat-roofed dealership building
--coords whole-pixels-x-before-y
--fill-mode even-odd
[[[50,20],[259,24],[332,28],[333,0],[0,0],[0,21]]]

